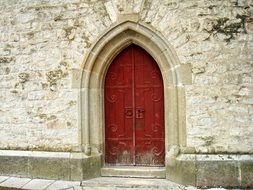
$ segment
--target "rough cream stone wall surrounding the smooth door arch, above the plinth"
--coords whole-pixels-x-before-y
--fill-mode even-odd
[[[70,151],[78,143],[72,70],[122,14],[162,33],[181,64],[186,142],[253,152],[253,1],[0,1],[0,149]]]

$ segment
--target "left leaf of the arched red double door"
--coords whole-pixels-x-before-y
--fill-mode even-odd
[[[105,78],[105,162],[133,164],[133,96],[131,51],[111,63]]]

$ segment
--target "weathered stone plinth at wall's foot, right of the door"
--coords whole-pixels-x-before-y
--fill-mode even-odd
[[[166,177],[198,187],[253,187],[253,155],[180,154],[167,157]]]

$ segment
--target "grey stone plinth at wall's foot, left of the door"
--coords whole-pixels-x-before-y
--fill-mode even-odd
[[[84,153],[0,151],[0,175],[83,180],[100,176],[101,156]]]

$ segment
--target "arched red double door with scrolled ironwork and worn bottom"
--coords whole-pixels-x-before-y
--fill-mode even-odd
[[[105,78],[105,163],[164,165],[164,95],[161,72],[142,48],[131,45]]]

